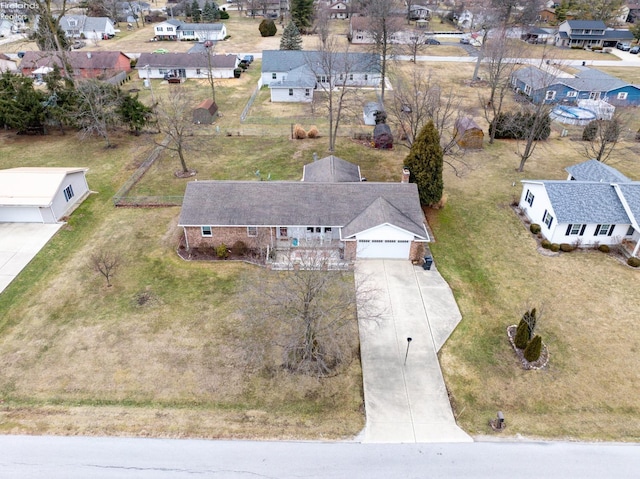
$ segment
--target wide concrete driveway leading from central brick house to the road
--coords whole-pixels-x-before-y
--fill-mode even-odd
[[[471,442],[456,424],[437,356],[461,319],[449,285],[435,268],[406,260],[360,260],[356,281],[375,290],[358,304],[363,442]]]

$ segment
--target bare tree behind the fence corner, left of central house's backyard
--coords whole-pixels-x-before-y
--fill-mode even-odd
[[[180,86],[172,90],[168,96],[158,101],[156,109],[158,130],[166,136],[165,142],[160,145],[176,152],[182,173],[190,174],[185,154],[195,149],[192,99]]]

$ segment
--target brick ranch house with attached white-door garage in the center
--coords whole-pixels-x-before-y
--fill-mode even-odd
[[[302,181],[193,181],[178,225],[187,249],[227,246],[332,250],[340,260],[420,260],[430,241],[418,188],[360,181],[356,165],[329,156]]]

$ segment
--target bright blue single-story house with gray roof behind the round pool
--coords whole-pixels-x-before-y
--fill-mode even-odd
[[[511,75],[513,88],[533,103],[576,104],[579,100],[605,100],[615,106],[640,105],[640,86],[599,70],[576,66],[575,75],[524,67]]]

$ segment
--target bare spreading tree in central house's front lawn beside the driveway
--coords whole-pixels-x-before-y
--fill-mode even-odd
[[[371,292],[352,273],[329,269],[326,250],[296,252],[290,271],[252,272],[244,281],[243,347],[254,367],[337,374],[357,355],[356,302],[366,304]]]

